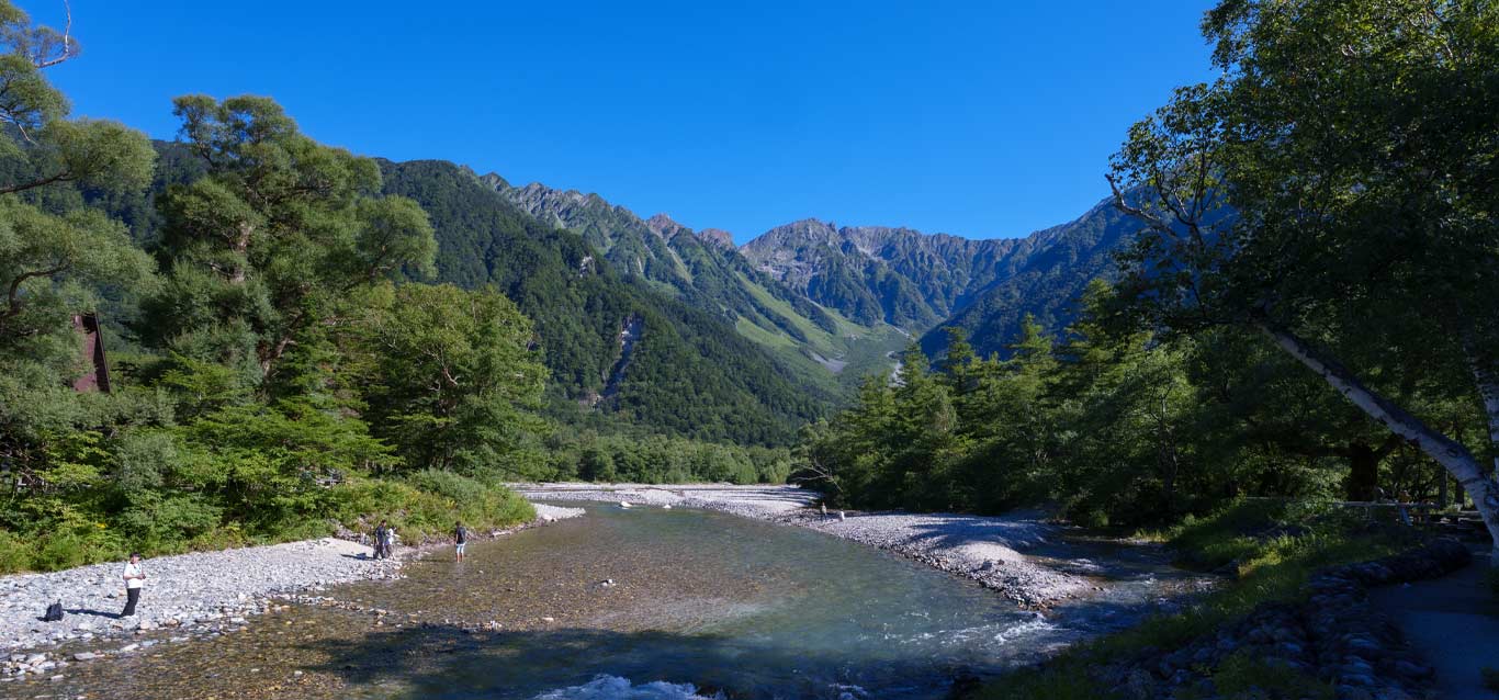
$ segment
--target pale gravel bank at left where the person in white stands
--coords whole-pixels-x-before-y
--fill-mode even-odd
[[[537,505],[537,523],[580,514],[582,508]],[[153,558],[142,562],[145,591],[132,618],[118,618],[124,607],[121,562],[0,577],[0,670],[55,673],[73,655],[52,658],[43,649],[60,645],[88,649],[76,652],[87,660],[145,648],[163,636],[186,640],[232,633],[246,618],[277,606],[277,597],[399,577],[402,562],[426,549],[430,546],[400,547],[396,559],[376,561],[369,546],[322,538]],[[66,616],[42,622],[46,606],[55,601]],[[130,643],[153,630],[162,633]]]

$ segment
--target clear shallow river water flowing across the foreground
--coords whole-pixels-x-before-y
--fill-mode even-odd
[[[934,699],[955,678],[1121,624],[1106,604],[1048,621],[800,528],[612,505],[322,595],[355,610],[292,606],[40,685],[67,697],[688,697],[691,684],[730,699]],[[0,694],[22,690],[37,688]]]

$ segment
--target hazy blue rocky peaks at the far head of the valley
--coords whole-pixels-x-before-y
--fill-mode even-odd
[[[1108,202],[1025,238],[968,240],[907,228],[835,226],[806,219],[773,228],[741,252],[785,286],[859,322],[922,334],[935,355],[943,328],[980,354],[1006,352],[1030,313],[1060,330],[1088,280],[1112,274],[1111,253],[1133,228]]]

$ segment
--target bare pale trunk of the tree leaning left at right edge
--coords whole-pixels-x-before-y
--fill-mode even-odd
[[[1433,430],[1421,418],[1411,415],[1403,408],[1396,406],[1394,402],[1366,387],[1346,367],[1331,358],[1322,357],[1321,352],[1289,330],[1264,319],[1256,321],[1255,325],[1283,351],[1291,354],[1291,357],[1295,357],[1297,361],[1316,372],[1318,376],[1349,402],[1396,435],[1420,447],[1423,453],[1435,459],[1456,477],[1463,484],[1463,490],[1472,496],[1474,507],[1478,508],[1478,514],[1484,519],[1484,526],[1489,528],[1489,537],[1493,538],[1490,565],[1499,568],[1499,483],[1495,481],[1495,474],[1489,469],[1489,465],[1480,462],[1462,442]],[[1484,408],[1489,409],[1492,424],[1495,418],[1493,409],[1499,409],[1499,403],[1489,399],[1490,396],[1499,397],[1499,393],[1492,391],[1495,387],[1484,388],[1483,381],[1480,381],[1480,391],[1484,393]]]

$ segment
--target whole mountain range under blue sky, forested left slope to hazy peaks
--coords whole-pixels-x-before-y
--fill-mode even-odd
[[[156,145],[153,190],[201,177],[184,148]],[[555,418],[708,441],[785,444],[910,343],[940,352],[947,327],[982,354],[1004,354],[1027,313],[1061,328],[1133,231],[1100,204],[1024,238],[806,219],[735,246],[595,193],[378,162],[385,193],[415,199],[438,238],[436,277],[414,279],[493,286],[532,318]],[[150,247],[150,195],[96,204]]]

